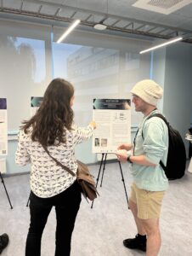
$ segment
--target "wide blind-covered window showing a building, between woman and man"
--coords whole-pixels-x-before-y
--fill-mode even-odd
[[[92,119],[93,98],[130,98],[129,90],[144,76],[143,66],[147,64],[150,70],[150,61],[146,63],[138,53],[128,50],[76,44],[54,44],[53,49],[54,77],[69,79],[74,84],[75,117],[81,125]],[[138,123],[134,109],[132,113],[133,123]]]

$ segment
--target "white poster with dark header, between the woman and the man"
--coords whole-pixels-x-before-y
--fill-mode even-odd
[[[131,142],[131,100],[93,99],[93,153],[115,154],[121,143]]]

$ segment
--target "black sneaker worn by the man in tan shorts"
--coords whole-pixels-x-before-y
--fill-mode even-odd
[[[135,236],[135,238],[128,238],[123,240],[123,245],[129,249],[138,249],[143,252],[146,252],[147,240],[142,237]]]

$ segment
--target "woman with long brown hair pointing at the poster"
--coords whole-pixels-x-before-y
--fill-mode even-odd
[[[74,88],[64,79],[54,79],[44,93],[37,113],[24,121],[15,154],[16,163],[31,163],[31,224],[25,256],[41,255],[42,232],[49,212],[55,207],[55,256],[71,253],[71,235],[81,203],[81,189],[71,176],[48,155],[76,173],[76,144],[92,137],[95,122],[87,127],[73,125]]]

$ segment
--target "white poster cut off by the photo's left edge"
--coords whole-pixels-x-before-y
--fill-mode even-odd
[[[0,155],[8,154],[7,99],[0,98]]]

